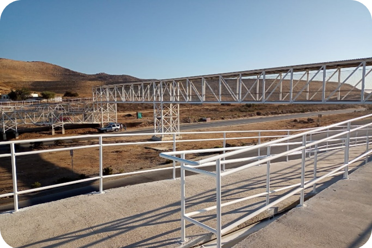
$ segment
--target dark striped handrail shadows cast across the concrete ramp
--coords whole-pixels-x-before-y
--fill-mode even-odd
[[[292,167],[293,171],[299,170],[299,164],[293,165],[291,167]],[[288,169],[288,168],[286,168],[286,169]],[[279,171],[281,171],[281,170],[279,170]],[[288,179],[281,180],[280,177],[282,177],[282,176],[283,176],[282,174],[277,174],[277,175],[272,177],[272,180],[274,181],[275,179],[277,179],[278,182],[275,182],[275,183],[285,182],[286,180],[288,180]],[[297,178],[297,176],[290,176],[289,180],[293,179],[293,178]],[[322,188],[328,187],[330,184],[336,182],[340,178],[342,178],[342,176],[335,177],[328,182],[324,182],[323,184],[320,184],[319,187],[318,187],[318,191],[320,191]],[[239,194],[241,192],[246,192],[247,190],[252,189],[252,187],[259,188],[258,187],[258,182],[259,181],[262,182],[262,180],[260,180],[260,179],[264,180],[265,176],[258,176],[258,177],[254,177],[254,178],[249,179],[249,180],[243,180],[243,181],[223,185],[222,186],[222,197],[224,197],[224,198],[231,197],[231,196],[234,196],[235,194]],[[241,183],[243,183],[243,185],[240,185],[237,188],[233,189],[234,191],[236,191],[236,190],[238,190],[238,191],[231,192],[232,190],[230,188],[231,188],[232,185],[241,184]],[[291,184],[291,183],[288,182],[288,185],[289,184]],[[207,192],[202,192],[202,193],[199,193],[195,196],[187,198],[187,201],[188,201],[187,204],[188,204],[188,206],[195,206],[195,205],[205,203],[205,202],[213,202],[215,200],[215,197],[216,197],[215,196],[215,190],[209,190]],[[281,197],[281,196],[274,196],[273,198],[271,198],[271,200],[275,200],[276,198],[279,198],[279,197]],[[230,200],[231,200],[231,198],[230,198]],[[242,206],[240,208],[237,208],[237,209],[234,209],[234,210],[231,210],[231,211],[228,211],[228,212],[223,212],[222,216],[230,215],[230,214],[237,214],[237,213],[240,213],[240,214],[243,214],[244,216],[246,216],[246,215],[249,215],[250,213],[252,213],[257,207],[261,207],[264,204],[265,204],[265,200],[261,198],[253,204]],[[178,202],[178,201],[173,202],[171,204],[161,206],[161,207],[155,208],[153,210],[146,211],[144,213],[128,216],[128,217],[121,218],[121,219],[118,219],[118,220],[113,220],[113,221],[101,223],[101,224],[90,226],[90,227],[87,227],[87,228],[84,228],[84,229],[81,229],[81,230],[78,230],[78,231],[71,231],[71,232],[68,232],[66,234],[56,236],[56,237],[47,238],[47,239],[44,239],[42,241],[27,244],[27,245],[21,246],[20,248],[28,248],[28,247],[33,247],[33,246],[43,247],[43,248],[57,248],[57,247],[60,247],[62,245],[66,245],[70,242],[73,242],[73,241],[76,241],[76,240],[79,240],[79,239],[82,239],[82,238],[87,238],[87,237],[90,237],[90,236],[92,236],[92,239],[94,239],[93,235],[96,235],[97,233],[102,234],[104,237],[99,238],[99,240],[95,240],[95,241],[92,241],[88,244],[85,244],[81,247],[82,248],[88,248],[88,247],[91,247],[91,246],[94,246],[94,245],[101,245],[103,247],[104,246],[103,242],[109,240],[110,238],[116,237],[116,236],[119,236],[119,235],[122,235],[122,234],[126,234],[130,231],[134,231],[137,228],[154,227],[156,225],[162,225],[162,224],[164,225],[164,224],[167,224],[167,223],[169,224],[169,223],[179,222],[180,218],[178,216],[169,220],[169,215],[177,215],[179,213],[179,206],[180,206],[180,202]],[[254,207],[253,210],[249,209],[249,208],[252,208],[252,207]],[[170,209],[166,210],[168,208],[170,208]],[[164,211],[164,210],[166,210],[166,211]],[[244,216],[242,216],[242,217],[244,217]],[[206,222],[206,221],[209,221],[209,220],[213,220],[214,218],[215,218],[215,215],[213,215],[213,214],[207,214],[207,215],[195,217],[195,219],[197,219],[198,221],[200,221],[202,223]],[[231,223],[224,224],[224,226],[228,225],[228,224],[231,224]],[[193,224],[188,224],[186,227],[191,227],[191,226],[193,226]],[[161,229],[159,229],[159,230],[161,230]],[[370,227],[369,230],[371,230],[371,227]],[[112,232],[115,232],[115,234],[112,234]],[[156,235],[152,235],[151,237],[143,238],[140,241],[137,241],[135,243],[123,246],[122,248],[141,248],[141,247],[160,248],[160,247],[167,246],[167,245],[177,244],[177,243],[179,243],[179,234],[178,234],[179,232],[180,232],[180,228],[171,229],[169,231],[165,231],[165,232],[162,232],[162,233],[158,233]],[[169,234],[172,234],[172,233],[175,233],[173,235],[173,236],[175,236],[175,238],[161,239],[162,237],[164,237],[166,235],[169,235]],[[368,234],[368,231],[366,231],[366,234],[363,234],[363,235],[366,236],[367,234]],[[128,235],[130,235],[130,234],[128,233]],[[203,235],[204,234],[188,236],[188,237],[197,239],[197,238],[200,238]],[[363,237],[361,237],[360,239],[363,239]],[[97,238],[97,237],[95,237],[95,238]],[[161,240],[159,240],[159,238]],[[55,243],[50,244],[51,242],[55,242]],[[359,241],[356,240],[355,242],[356,242],[355,244],[357,244],[357,242],[359,242]]]

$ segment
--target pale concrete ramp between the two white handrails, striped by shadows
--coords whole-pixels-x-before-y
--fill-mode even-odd
[[[350,158],[356,157],[360,152],[351,149]],[[327,152],[319,155],[318,159],[318,175],[321,176],[343,163],[343,153]],[[361,163],[356,163],[355,166]],[[272,163],[271,189],[300,182],[300,167],[300,160]],[[312,178],[312,168],[313,158],[309,158],[306,161],[305,180]],[[318,190],[340,178],[342,176],[327,179],[319,184]],[[266,166],[255,166],[223,178],[223,202],[265,192],[265,181]],[[311,194],[310,191],[311,189],[307,190],[307,196]],[[286,192],[276,193],[270,200]],[[215,194],[214,179],[202,175],[187,177],[186,212],[215,205]],[[299,195],[294,195],[278,204],[274,211],[279,212],[296,205],[298,199]],[[342,202],[348,201],[346,199]],[[223,226],[252,213],[264,204],[265,197],[261,197],[223,208]],[[207,212],[197,215],[196,219],[215,228],[215,214],[215,211]],[[245,224],[269,215],[269,212],[265,212]],[[307,231],[303,230],[301,236],[304,237]],[[178,248],[180,180],[131,185],[108,190],[101,195],[88,194],[35,205],[17,213],[4,213],[0,215],[0,232],[3,239],[15,248]],[[187,223],[186,235],[189,242],[184,247],[211,237],[210,233],[190,223]]]

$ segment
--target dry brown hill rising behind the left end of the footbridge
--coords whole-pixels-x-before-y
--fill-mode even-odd
[[[141,81],[129,75],[106,73],[84,74],[46,62],[24,62],[0,58],[0,93],[11,89],[27,87],[32,91],[45,90],[63,94],[78,92],[81,96],[91,96],[92,86],[112,83]]]

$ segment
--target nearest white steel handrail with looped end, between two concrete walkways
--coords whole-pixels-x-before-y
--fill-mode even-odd
[[[305,131],[302,133],[294,134],[291,136],[286,136],[284,138],[279,138],[274,141],[269,141],[263,144],[259,144],[256,146],[250,146],[250,147],[245,147],[242,149],[237,149],[235,151],[230,151],[228,153],[223,153],[220,155],[212,156],[206,159],[201,159],[199,161],[189,161],[185,159],[185,154],[190,154],[194,153],[195,151],[176,151],[176,152],[163,152],[160,154],[161,157],[171,159],[174,161],[179,161],[181,162],[181,175],[184,174],[184,171],[192,171],[195,173],[199,174],[204,174],[208,176],[212,176],[216,178],[216,205],[211,206],[208,208],[204,208],[198,211],[193,211],[191,213],[186,213],[185,209],[185,192],[183,191],[181,195],[181,241],[184,242],[186,241],[186,228],[185,228],[185,220],[190,221],[193,224],[199,225],[199,222],[194,222],[191,216],[198,215],[207,211],[211,210],[217,210],[217,224],[216,224],[216,231],[213,232],[216,233],[217,236],[217,247],[220,248],[221,246],[221,235],[226,233],[227,231],[231,231],[233,228],[237,227],[238,225],[244,223],[245,221],[251,219],[252,217],[263,213],[267,209],[271,208],[272,206],[278,204],[279,202],[283,201],[284,199],[287,199],[297,193],[301,193],[300,196],[300,205],[302,206],[304,204],[304,190],[305,188],[308,188],[310,186],[313,186],[313,192],[316,190],[316,184],[317,182],[320,182],[321,180],[330,177],[330,176],[336,176],[339,174],[344,174],[344,178],[348,178],[348,172],[350,171],[349,165],[355,163],[356,161],[359,161],[360,159],[363,159],[365,157],[365,163],[368,162],[368,156],[372,153],[372,149],[369,149],[369,144],[370,144],[370,136],[368,135],[368,130],[369,127],[372,126],[372,123],[367,123],[364,125],[351,125],[352,121],[356,120],[361,120],[365,118],[370,118],[372,115],[367,115],[367,116],[361,116],[357,117],[351,120],[347,121],[342,121],[337,124],[329,125],[327,127],[321,127],[316,130],[310,130],[310,131]],[[346,129],[344,129],[344,124],[347,124]],[[334,128],[339,128],[342,127],[341,130],[334,130]],[[367,130],[367,135],[362,135],[358,136],[358,131],[359,130]],[[318,140],[313,140],[314,135],[316,133],[321,133],[321,132],[327,132],[327,137],[318,139]],[[329,132],[336,132],[336,134],[329,135]],[[356,135],[355,137],[351,137],[351,133],[355,132]],[[309,135],[311,137],[310,141],[306,141],[306,136]],[[345,137],[346,136],[346,137]],[[300,138],[302,137],[302,142],[288,142],[289,140],[295,139],[295,138]],[[350,142],[353,141],[353,144],[350,144]],[[332,143],[330,143],[332,142]],[[334,143],[336,142],[336,143]],[[341,143],[337,143],[341,142]],[[290,145],[299,145],[294,149],[289,149]],[[270,154],[270,148],[273,146],[287,146],[287,150],[278,154]],[[357,147],[357,146],[366,146],[366,151],[363,152],[361,155],[357,156],[355,159],[349,160],[349,149],[351,147]],[[253,151],[257,149],[258,151],[261,148],[267,147],[268,148],[268,153],[265,156],[257,156],[257,157],[244,157],[239,158],[239,159],[228,159],[229,157],[233,155],[240,155],[244,154],[247,151]],[[338,166],[337,168],[333,169],[332,171],[326,173],[325,175],[322,175],[321,177],[317,177],[317,157],[318,153],[321,151],[328,152],[330,150],[336,150],[336,149],[345,149],[345,155],[344,155],[344,164]],[[201,152],[198,150],[198,152]],[[305,173],[305,157],[306,154],[311,155],[311,153],[314,154],[314,178],[312,180],[304,181],[304,173]],[[301,182],[292,184],[286,187],[282,187],[279,189],[270,190],[270,162],[274,159],[278,159],[281,157],[285,157],[287,155],[295,155],[295,154],[302,154],[302,165],[301,165]],[[174,157],[180,155],[180,158]],[[228,171],[222,171],[221,172],[221,165],[222,164],[229,164],[229,163],[237,163],[237,162],[245,162],[245,161],[250,161],[250,160],[257,160],[255,162],[249,163],[247,165],[242,165],[237,168],[230,169]],[[240,198],[240,199],[235,199],[229,202],[221,203],[221,179],[225,176],[237,173],[241,170],[248,169],[250,167],[256,166],[256,165],[261,165],[267,163],[268,169],[267,169],[267,191],[259,194],[255,194],[253,196],[245,197],[245,198]],[[203,165],[216,165],[216,172],[206,172],[204,170],[199,169],[199,167],[202,167]],[[340,171],[342,170],[343,171]],[[224,169],[223,169],[224,170]],[[269,179],[269,180],[268,180]],[[181,177],[181,185],[184,185],[185,178]],[[184,187],[184,186],[183,186]],[[297,187],[297,188],[296,188]],[[274,192],[279,192],[282,190],[290,189],[290,188],[295,188],[291,192],[285,194],[281,198],[269,202],[269,195],[274,193]],[[234,223],[231,223],[227,227],[222,228],[221,227],[221,208],[224,206],[232,205],[238,202],[242,202],[248,199],[252,198],[257,198],[257,197],[262,197],[266,196],[267,201],[266,205],[264,207],[259,208],[258,210],[254,211],[254,213],[238,219]],[[211,227],[205,228],[205,224],[201,223],[202,225],[199,225],[203,227],[204,229],[213,229]],[[214,229],[213,229],[214,230]]]

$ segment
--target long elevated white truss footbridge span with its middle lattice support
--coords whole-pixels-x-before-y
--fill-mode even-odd
[[[179,104],[371,104],[372,58],[93,87],[107,103],[153,103],[154,132],[179,132]]]

